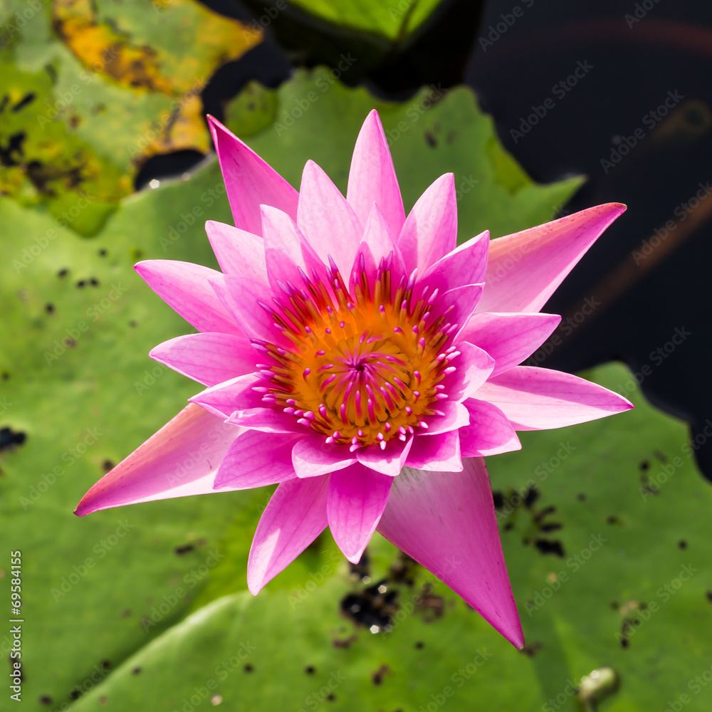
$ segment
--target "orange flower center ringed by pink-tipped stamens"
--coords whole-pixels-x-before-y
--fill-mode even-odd
[[[442,414],[441,381],[455,370],[456,349],[446,348],[457,330],[451,307],[439,305],[437,290],[414,298],[416,273],[394,289],[392,258],[371,281],[361,258],[350,290],[330,260],[325,280],[302,272],[304,289],[283,286],[277,309],[260,304],[293,344],[253,340],[273,361],[259,366],[268,382],[256,387],[263,402],[352,450],[426,429],[427,417]]]

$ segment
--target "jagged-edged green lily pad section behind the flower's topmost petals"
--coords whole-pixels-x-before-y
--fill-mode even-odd
[[[543,223],[582,183],[535,184],[501,147],[491,117],[464,87],[447,93],[425,88],[405,103],[386,103],[365,89],[345,87],[331,70],[300,70],[278,90],[278,103],[272,90],[251,85],[229,107],[228,123],[295,187],[311,158],[345,193],[355,137],[373,108],[406,209],[439,175],[455,174],[459,241],[483,230],[499,237]]]

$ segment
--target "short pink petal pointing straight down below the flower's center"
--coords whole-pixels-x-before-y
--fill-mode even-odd
[[[394,478],[360,464],[331,475],[327,515],[329,528],[345,557],[357,564],[370,542]]]

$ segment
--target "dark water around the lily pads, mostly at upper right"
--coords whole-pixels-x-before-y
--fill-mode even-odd
[[[273,2],[207,4],[259,21]],[[387,98],[471,85],[535,179],[587,174],[564,213],[628,205],[545,307],[565,319],[532,363],[577,371],[623,360],[651,402],[691,423],[712,479],[712,6],[452,0],[397,49],[324,30],[299,11],[279,14],[266,43],[214,76],[206,111],[220,116],[253,78],[277,86],[292,66],[335,66],[344,52],[359,58],[350,83]],[[195,158],[155,159],[139,182]]]

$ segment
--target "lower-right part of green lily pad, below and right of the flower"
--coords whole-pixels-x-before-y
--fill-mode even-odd
[[[618,365],[593,376],[609,387],[630,383]],[[598,671],[588,683],[600,684],[606,668],[619,690],[601,694],[602,709],[647,712],[670,701],[707,710],[712,492],[685,427],[637,392],[634,400],[634,412],[525,433],[521,452],[488,460],[524,654],[422,569],[409,572],[414,585],[399,582],[397,553],[381,538],[369,548],[368,582],[345,564],[328,575],[333,543],[324,539],[308,575],[286,572],[276,580],[290,578],[284,588],[200,609],[77,711],[101,699],[156,712],[208,700],[236,711],[575,710],[582,678]],[[543,553],[559,548],[561,556]],[[389,592],[394,602],[384,600]],[[372,634],[388,613],[392,629]]]

